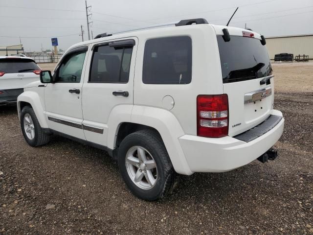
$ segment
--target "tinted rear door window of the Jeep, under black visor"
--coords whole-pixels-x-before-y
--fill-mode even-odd
[[[89,82],[91,83],[128,83],[133,47],[94,48]]]

